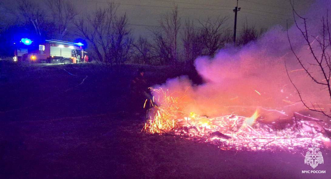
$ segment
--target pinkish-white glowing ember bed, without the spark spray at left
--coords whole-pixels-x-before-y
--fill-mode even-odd
[[[307,142],[320,146],[329,141],[318,122],[293,119],[292,123],[287,124],[263,124],[260,121],[253,124],[256,117],[257,113],[250,118],[236,115],[184,118],[179,120],[181,127],[173,132],[176,135],[205,139],[224,150],[293,150],[305,146]]]

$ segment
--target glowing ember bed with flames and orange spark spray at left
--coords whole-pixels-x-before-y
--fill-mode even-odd
[[[144,129],[150,133],[170,133],[217,144],[223,150],[290,150],[314,143],[321,147],[330,142],[329,127],[317,119],[296,113],[287,121],[264,122],[256,112],[251,117],[226,115],[199,116],[194,112],[184,114],[181,98],[171,97],[163,89],[152,89],[149,120]],[[152,103],[158,99],[155,105]],[[146,102],[145,102],[146,103]],[[144,104],[145,105],[145,104]],[[186,117],[185,117],[186,116]]]

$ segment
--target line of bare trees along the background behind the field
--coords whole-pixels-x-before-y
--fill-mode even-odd
[[[95,12],[79,14],[67,0],[48,0],[43,7],[31,0],[17,1],[16,11],[11,11],[16,17],[12,24],[0,21],[0,38],[13,28],[26,28],[37,36],[58,40],[80,37],[87,41],[90,57],[103,64],[193,63],[198,56],[213,56],[232,43],[232,29],[225,27],[227,18],[182,20],[177,7],[163,15],[159,27],[149,29],[148,36],[134,40],[126,14],[119,14],[118,5],[112,2]],[[236,45],[254,41],[261,33],[246,24]]]

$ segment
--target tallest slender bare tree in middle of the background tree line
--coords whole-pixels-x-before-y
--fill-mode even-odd
[[[180,17],[178,8],[175,7],[170,14],[160,21],[161,29],[154,30],[154,54],[167,63],[176,63],[178,60],[178,34],[180,28]]]

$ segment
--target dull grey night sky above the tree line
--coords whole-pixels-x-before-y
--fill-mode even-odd
[[[44,0],[36,0],[40,4],[45,4]],[[12,0],[3,0],[5,6],[13,9]],[[96,8],[103,7],[106,0],[72,0],[77,10],[83,14],[93,12]],[[113,1],[119,5],[118,13],[126,13],[129,25],[132,28],[134,36],[149,33],[148,29],[157,28],[159,20],[166,12],[171,12],[175,5],[178,5],[179,15],[182,24],[186,18],[204,20],[207,17],[217,18],[227,17],[224,30],[232,32],[234,23],[233,9],[236,6],[236,0],[117,0]],[[304,14],[314,0],[295,1],[295,7],[299,13]],[[46,5],[46,4],[45,4]],[[243,24],[248,22],[249,26],[255,26],[257,29],[268,29],[276,24],[285,27],[286,19],[292,18],[292,10],[289,0],[239,0],[237,31],[240,33]],[[9,14],[7,17],[10,16]],[[76,18],[80,18],[79,16]],[[289,21],[290,23],[292,21]],[[196,23],[197,24],[197,23]]]

